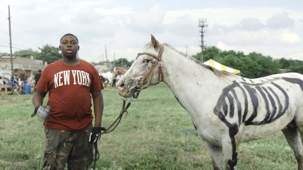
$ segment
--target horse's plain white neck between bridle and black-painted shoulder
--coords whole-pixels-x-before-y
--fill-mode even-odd
[[[162,61],[163,82],[190,114],[197,113],[202,105],[210,107],[228,85],[228,81],[175,51],[164,53]]]

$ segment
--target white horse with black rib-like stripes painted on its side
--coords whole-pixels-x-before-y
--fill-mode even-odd
[[[153,35],[142,51],[118,82],[118,94],[138,97],[138,91],[164,82],[190,115],[215,170],[224,168],[223,160],[225,169],[237,169],[239,143],[280,130],[303,169],[303,75],[244,78],[205,65]]]

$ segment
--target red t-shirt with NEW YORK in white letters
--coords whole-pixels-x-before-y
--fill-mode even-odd
[[[44,126],[68,131],[86,129],[94,118],[91,93],[103,88],[97,69],[84,60],[76,66],[67,66],[61,60],[47,65],[36,85],[40,91],[49,91],[47,104],[51,110]]]

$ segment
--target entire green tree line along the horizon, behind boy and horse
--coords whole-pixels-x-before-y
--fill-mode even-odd
[[[25,58],[41,59],[47,63],[53,63],[58,59],[62,59],[62,54],[58,47],[52,45],[44,45],[38,47],[41,52],[32,49],[16,51],[13,56],[20,56]],[[9,56],[8,53],[0,53],[0,56]],[[199,59],[201,53],[197,53],[193,57]],[[271,56],[264,56],[261,53],[252,52],[245,55],[241,51],[222,51],[215,46],[205,47],[203,52],[204,61],[213,59],[225,66],[238,69],[242,76],[255,79],[281,72],[298,72],[303,74],[303,61],[293,59],[273,59]],[[123,60],[123,61],[122,61]],[[128,61],[126,58],[119,58],[115,60],[115,67],[130,67],[134,60]],[[92,63],[92,64],[106,64],[106,62]],[[114,65],[114,61],[108,61],[108,64]],[[283,69],[283,70],[281,70]]]

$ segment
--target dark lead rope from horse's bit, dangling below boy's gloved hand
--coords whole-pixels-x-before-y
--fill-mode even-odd
[[[109,132],[112,132],[117,126],[118,124],[120,123],[121,119],[122,119],[122,116],[123,114],[126,112],[127,113],[127,109],[128,107],[132,104],[132,99],[130,98],[128,100],[128,104],[126,105],[125,107],[125,104],[126,104],[126,98],[123,98],[123,106],[122,106],[122,109],[120,111],[120,115],[119,117],[114,121],[114,123],[112,123],[111,126],[109,126],[107,129],[105,129],[104,127],[101,127],[101,130],[103,130],[103,132],[99,133],[100,135],[102,134],[105,134],[105,133],[109,133]],[[115,126],[114,126],[115,125]],[[114,127],[113,127],[114,126]],[[113,127],[113,128],[112,128]],[[111,129],[112,128],[112,129]],[[95,137],[95,136],[94,136]],[[94,150],[95,150],[95,154],[94,154]],[[100,158],[100,154],[98,152],[98,144],[97,142],[95,143],[92,143],[89,145],[89,148],[88,148],[88,156],[89,156],[89,159],[92,159],[92,161],[94,162],[94,167],[93,169],[95,170],[96,169],[96,162],[97,160]]]

